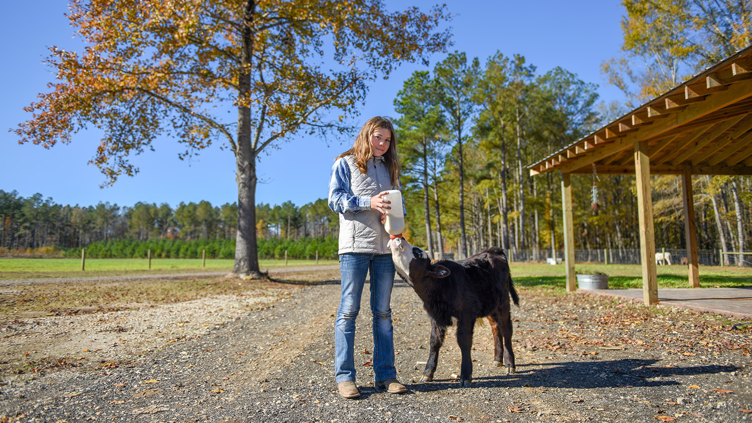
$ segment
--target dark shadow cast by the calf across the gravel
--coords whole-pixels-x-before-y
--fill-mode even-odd
[[[637,388],[681,385],[677,376],[732,372],[734,366],[672,366],[651,367],[660,360],[623,359],[614,361],[572,361],[568,363],[522,364],[511,375],[482,376],[473,379],[472,388]],[[543,369],[526,370],[528,366]],[[499,370],[505,371],[505,370]],[[670,379],[669,379],[670,378]],[[433,382],[414,383],[412,391],[438,391],[459,388],[453,379],[434,379]]]

